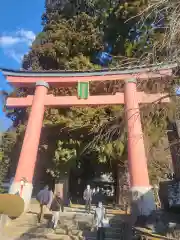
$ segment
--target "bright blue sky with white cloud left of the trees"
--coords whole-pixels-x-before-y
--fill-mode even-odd
[[[0,4],[0,67],[19,69],[22,58],[35,36],[41,31],[41,16],[45,0],[1,0]],[[11,91],[0,74],[0,132],[5,132],[12,121],[3,112],[1,91]]]

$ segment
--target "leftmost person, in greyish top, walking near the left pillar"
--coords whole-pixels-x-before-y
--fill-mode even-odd
[[[36,199],[40,204],[40,213],[38,215],[38,222],[40,223],[44,215],[44,207],[48,207],[51,203],[52,191],[49,190],[48,186],[45,186],[44,189],[38,193]]]

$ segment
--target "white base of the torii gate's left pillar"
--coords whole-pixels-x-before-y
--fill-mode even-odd
[[[31,202],[31,197],[32,197],[32,190],[33,190],[33,185],[32,183],[26,183],[25,186],[23,186],[22,190],[22,198],[24,199],[24,211],[27,211]],[[9,193],[10,194],[18,194],[20,195],[21,193],[21,183],[20,182],[13,182],[9,188]]]

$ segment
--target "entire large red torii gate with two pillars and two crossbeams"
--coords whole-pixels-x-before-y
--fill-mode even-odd
[[[125,104],[128,130],[128,163],[132,194],[140,208],[141,214],[149,215],[155,209],[152,188],[149,183],[147,159],[144,148],[143,132],[140,119],[139,103],[152,103],[165,94],[146,94],[137,92],[136,83],[141,80],[171,78],[175,64],[151,66],[149,68],[134,68],[116,71],[94,72],[33,72],[2,69],[9,83],[15,87],[35,87],[34,96],[7,99],[7,107],[31,107],[25,132],[22,150],[10,193],[16,193],[21,187],[22,179],[27,183],[23,188],[22,197],[26,209],[32,195],[32,180],[38,152],[44,110],[49,107],[67,107],[83,105],[113,105]],[[101,82],[109,80],[124,81],[124,93],[115,95],[89,96],[88,99],[78,99],[76,96],[48,95],[50,87],[76,86],[78,82]],[[169,102],[164,98],[163,102]],[[143,196],[143,198],[141,197]]]

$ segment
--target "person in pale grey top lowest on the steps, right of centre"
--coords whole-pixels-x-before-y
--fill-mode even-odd
[[[98,206],[95,209],[94,221],[97,229],[96,240],[105,239],[105,227],[109,225],[108,219],[106,217],[106,209],[103,206],[102,202],[98,203]]]

